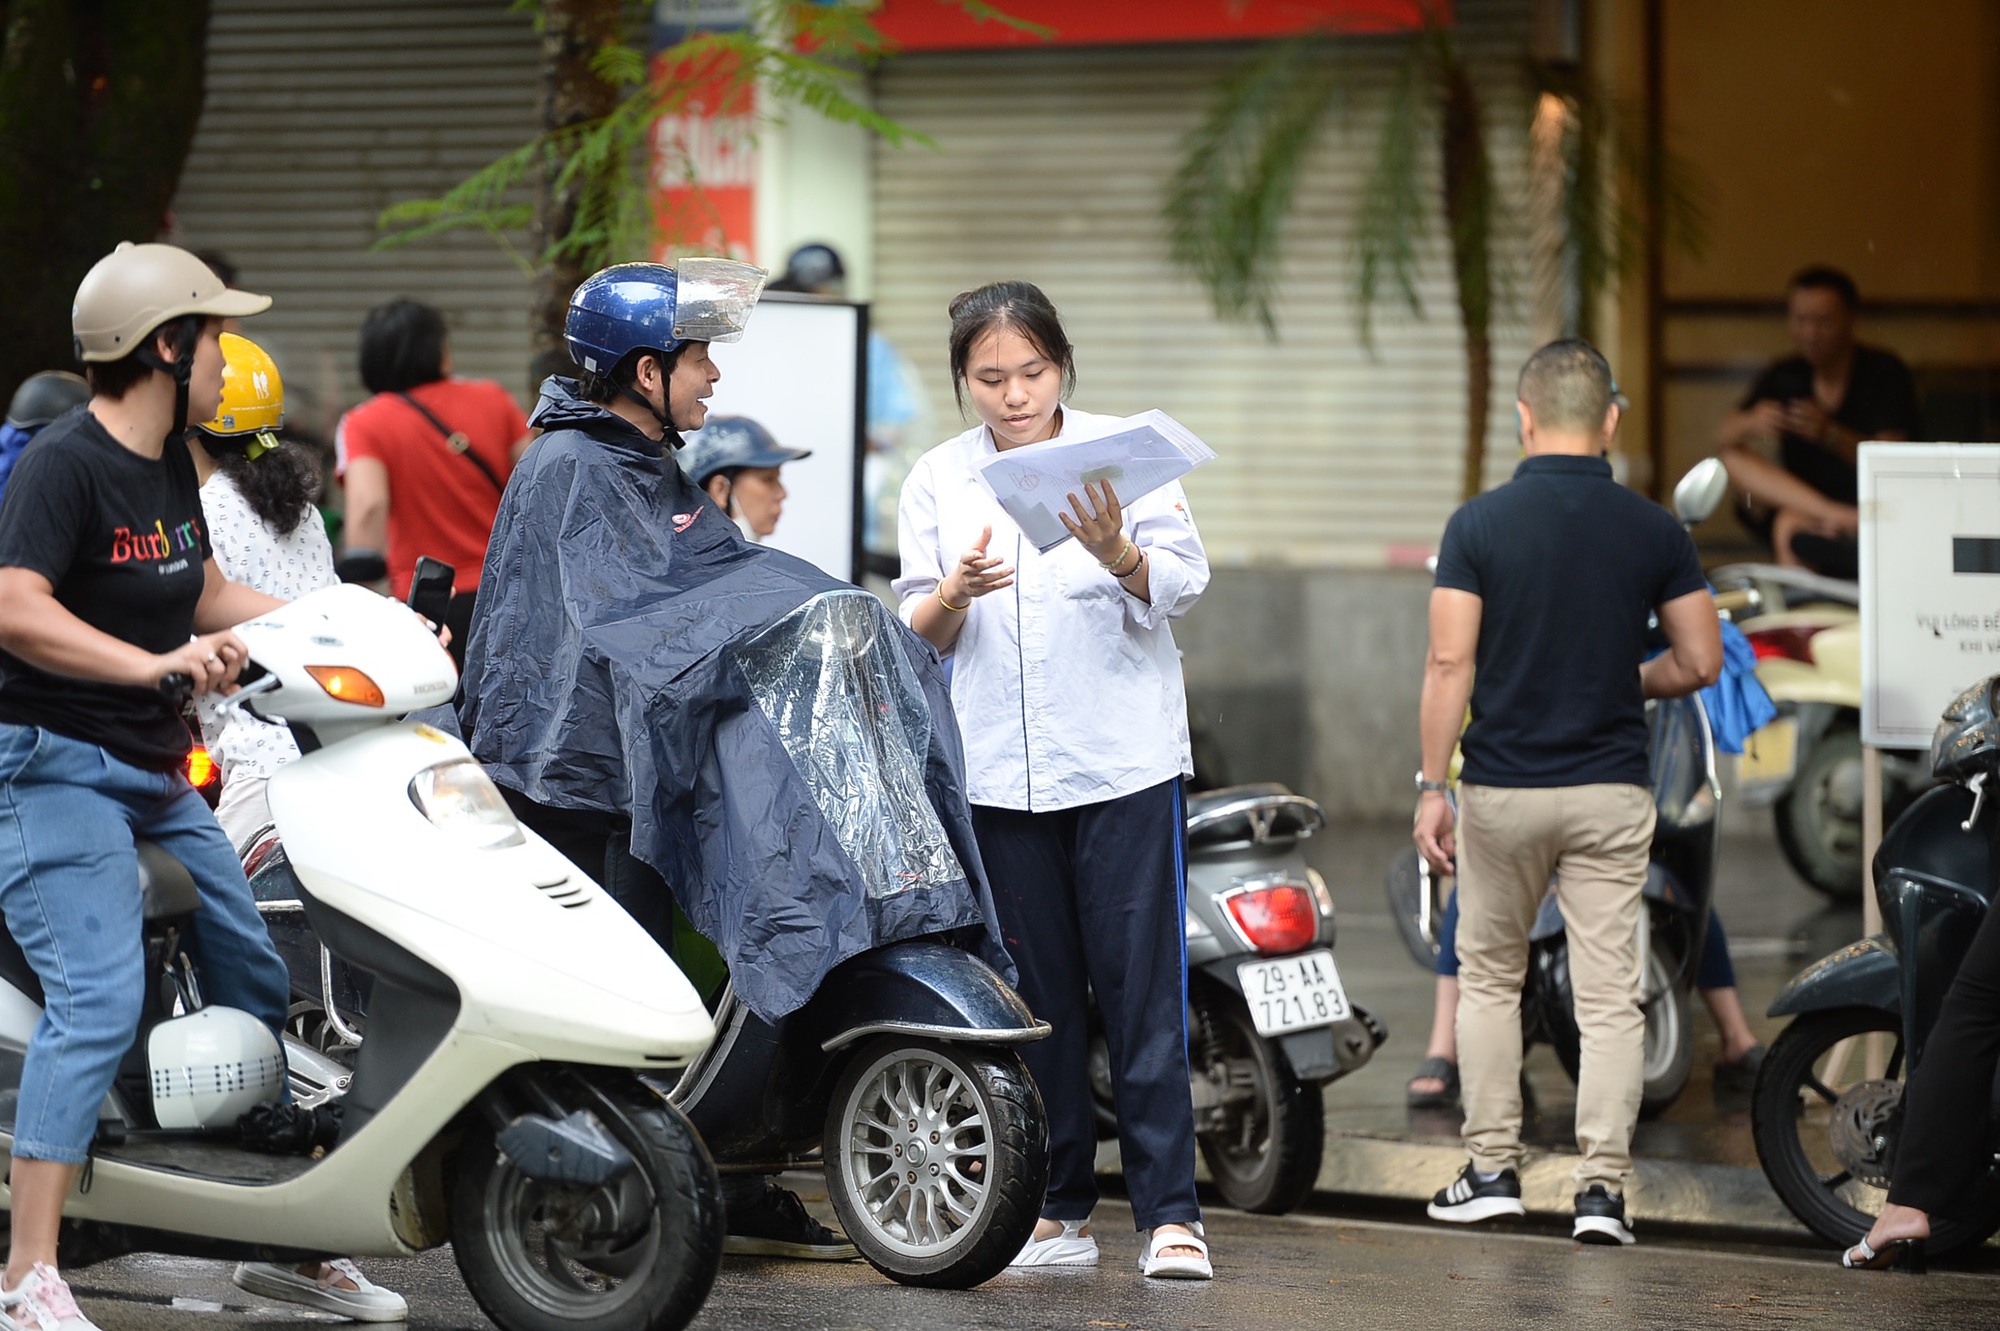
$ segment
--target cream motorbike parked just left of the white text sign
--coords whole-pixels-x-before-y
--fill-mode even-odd
[[[1800,879],[1834,899],[1860,899],[1860,586],[1774,564],[1732,564],[1712,578],[1778,703],[1744,745],[1738,793],[1772,805],[1778,845]],[[1926,785],[1918,761],[1884,753],[1884,821]]]

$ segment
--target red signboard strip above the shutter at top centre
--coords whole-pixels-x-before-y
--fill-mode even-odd
[[[1452,18],[1450,0],[994,0],[994,8],[1050,36],[980,22],[950,0],[882,0],[874,22],[902,50],[982,50],[1232,42],[1314,28],[1408,32],[1424,26],[1426,12]]]

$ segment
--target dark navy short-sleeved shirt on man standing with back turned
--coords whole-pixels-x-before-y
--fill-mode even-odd
[[[1438,586],[1480,598],[1466,781],[1646,785],[1646,616],[1708,586],[1672,514],[1540,454],[1452,514]]]

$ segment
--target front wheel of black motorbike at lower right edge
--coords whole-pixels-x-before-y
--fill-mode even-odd
[[[1882,1033],[1882,1077],[1868,1077],[1866,1037]],[[1798,1017],[1772,1041],[1750,1099],[1758,1161],[1780,1201],[1828,1243],[1862,1239],[1888,1199],[1902,1131],[1902,1021],[1870,1007]],[[1878,1145],[1880,1143],[1880,1145]],[[2000,1191],[1970,1219],[1932,1217],[1932,1257],[2000,1231]]]

